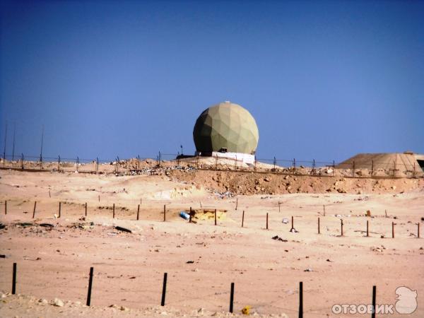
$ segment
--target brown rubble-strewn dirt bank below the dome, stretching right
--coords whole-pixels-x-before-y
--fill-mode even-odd
[[[368,179],[276,175],[262,172],[171,170],[170,177],[180,182],[193,182],[206,189],[232,194],[290,193],[399,193],[423,188],[423,179]]]

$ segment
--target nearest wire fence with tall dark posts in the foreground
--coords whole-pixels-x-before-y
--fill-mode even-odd
[[[331,305],[319,304],[310,300],[304,302],[304,294],[322,294],[322,290],[307,289],[305,293],[302,281],[298,283],[298,286],[288,283],[282,286],[278,285],[277,281],[264,281],[262,283],[266,284],[266,292],[257,295],[252,293],[252,286],[249,282],[244,282],[240,279],[235,279],[237,284],[234,282],[225,282],[224,284],[223,282],[218,283],[215,281],[214,284],[218,286],[204,288],[204,286],[201,287],[204,282],[201,281],[199,283],[200,280],[196,278],[195,274],[188,275],[184,278],[184,281],[172,275],[170,281],[168,281],[168,273],[166,272],[163,273],[163,280],[161,280],[158,271],[152,271],[146,277],[143,273],[136,271],[134,276],[131,277],[143,278],[141,285],[136,279],[126,280],[125,285],[121,286],[117,285],[115,281],[112,290],[110,290],[111,281],[114,281],[114,278],[118,278],[118,276],[114,276],[117,274],[116,271],[111,273],[104,268],[96,271],[94,267],[90,267],[87,275],[81,269],[71,272],[69,265],[65,267],[49,266],[48,270],[44,270],[44,273],[50,273],[48,281],[46,281],[46,278],[37,278],[37,282],[33,283],[34,269],[31,269],[28,264],[13,263],[11,265],[13,265],[11,269],[4,267],[0,271],[0,285],[4,290],[7,290],[7,285],[10,283],[11,295],[19,293],[55,299],[69,297],[71,300],[84,302],[87,306],[94,303],[95,305],[109,305],[112,307],[111,303],[116,304],[120,300],[124,305],[131,307],[160,305],[162,307],[172,306],[189,311],[190,307],[196,308],[197,305],[201,304],[202,310],[205,307],[206,310],[224,311],[228,308],[228,312],[232,313],[243,312],[246,304],[251,304],[253,310],[260,314],[278,314],[283,312],[290,314],[290,317],[292,315],[303,317],[303,314],[314,314],[314,317],[328,317],[329,313],[332,310],[334,311],[334,306],[331,307]],[[379,306],[377,304],[377,289],[375,286],[372,286],[370,290],[363,289],[363,292],[360,293],[356,291],[354,299],[352,293],[338,293],[337,295],[331,294],[331,296],[334,298],[334,304],[352,303],[353,300],[356,300],[360,304],[372,305],[376,308],[375,311],[377,313],[384,313],[377,311]],[[310,296],[307,298],[310,299]],[[54,300],[53,303],[56,301]],[[193,306],[193,304],[195,305]],[[154,309],[151,308],[151,310]],[[334,313],[340,314],[341,312]],[[363,313],[371,314],[372,312]]]

